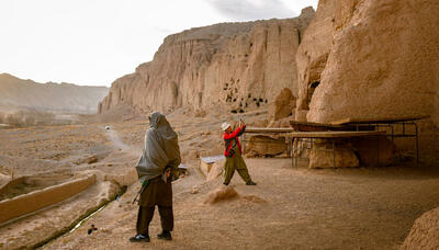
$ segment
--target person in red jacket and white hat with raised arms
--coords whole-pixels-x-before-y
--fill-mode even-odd
[[[224,156],[226,157],[224,184],[228,185],[228,183],[230,183],[235,170],[237,170],[247,185],[256,185],[256,183],[251,181],[246,162],[241,157],[243,150],[238,138],[245,133],[246,124],[239,122],[238,127],[233,130],[229,123],[223,123],[222,128],[224,130],[223,139],[225,144]]]

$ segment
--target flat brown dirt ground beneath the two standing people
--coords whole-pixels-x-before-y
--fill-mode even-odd
[[[386,169],[292,169],[288,159],[249,159],[257,186],[238,175],[232,185],[247,198],[204,205],[221,180],[189,192],[196,178],[175,189],[175,240],[157,240],[158,213],[150,243],[130,243],[138,186],[99,213],[76,232],[47,249],[395,249],[414,220],[439,206],[439,171],[394,167]],[[189,184],[188,184],[189,183]],[[88,236],[95,224],[100,230]]]

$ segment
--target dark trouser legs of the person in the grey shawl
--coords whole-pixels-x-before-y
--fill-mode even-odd
[[[139,206],[137,215],[136,229],[137,234],[149,235],[149,224],[154,217],[155,206]],[[160,214],[161,229],[172,231],[173,229],[173,212],[172,206],[158,206]]]

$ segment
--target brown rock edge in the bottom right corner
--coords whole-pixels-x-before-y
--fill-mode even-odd
[[[401,249],[439,249],[439,207],[416,219]]]

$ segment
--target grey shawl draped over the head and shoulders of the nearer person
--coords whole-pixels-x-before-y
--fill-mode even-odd
[[[140,180],[164,175],[165,169],[177,169],[181,162],[178,135],[165,115],[153,112],[145,135],[145,148],[136,166]]]

